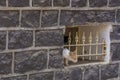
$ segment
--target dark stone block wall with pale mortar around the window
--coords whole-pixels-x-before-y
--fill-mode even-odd
[[[110,64],[64,67],[65,26],[110,23]],[[120,0],[0,0],[0,80],[119,80]]]

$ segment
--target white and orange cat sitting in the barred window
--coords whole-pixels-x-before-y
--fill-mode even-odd
[[[76,51],[70,52],[67,48],[63,49],[63,57],[65,59],[65,65],[69,65],[69,61],[77,63],[77,53]]]

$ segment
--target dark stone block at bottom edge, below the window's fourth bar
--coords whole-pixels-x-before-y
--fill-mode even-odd
[[[84,80],[99,80],[99,67],[97,65],[87,66]]]

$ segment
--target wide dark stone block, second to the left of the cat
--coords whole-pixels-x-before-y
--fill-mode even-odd
[[[22,51],[15,54],[15,72],[24,73],[47,67],[47,51]]]

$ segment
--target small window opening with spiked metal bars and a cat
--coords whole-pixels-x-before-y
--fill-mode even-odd
[[[66,27],[65,65],[110,61],[111,25]]]

